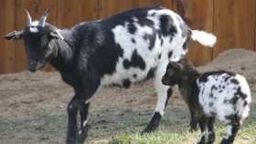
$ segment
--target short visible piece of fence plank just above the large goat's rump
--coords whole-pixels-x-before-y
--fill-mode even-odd
[[[161,5],[168,9],[173,8],[173,0],[140,0],[140,7]]]

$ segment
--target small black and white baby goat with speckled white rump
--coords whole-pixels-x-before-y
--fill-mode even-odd
[[[246,79],[239,74],[227,71],[199,74],[187,59],[182,58],[167,65],[162,83],[177,85],[190,111],[194,112],[201,129],[198,143],[214,142],[216,117],[228,128],[221,143],[232,143],[242,121],[249,115],[251,91]]]

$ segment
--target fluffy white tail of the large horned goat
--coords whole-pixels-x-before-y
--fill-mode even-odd
[[[191,38],[203,46],[213,47],[216,43],[216,36],[205,31],[191,30]]]

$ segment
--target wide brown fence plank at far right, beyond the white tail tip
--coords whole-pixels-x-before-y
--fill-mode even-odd
[[[230,48],[254,49],[255,1],[215,0],[213,57]]]

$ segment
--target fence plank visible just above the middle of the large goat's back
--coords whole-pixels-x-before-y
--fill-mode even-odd
[[[138,0],[99,0],[99,18],[139,7]]]

